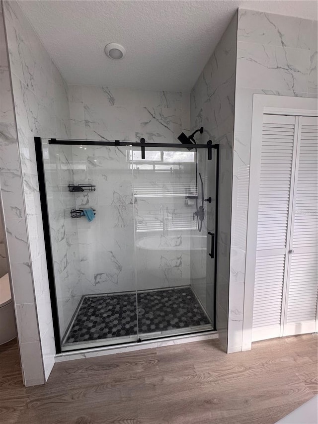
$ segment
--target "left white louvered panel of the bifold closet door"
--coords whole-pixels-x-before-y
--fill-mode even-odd
[[[264,115],[252,341],[281,335],[296,137],[295,116]]]

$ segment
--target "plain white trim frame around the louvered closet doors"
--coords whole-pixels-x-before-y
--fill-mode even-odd
[[[263,114],[318,116],[317,99],[266,94],[253,95],[242,350],[250,350],[252,346]]]

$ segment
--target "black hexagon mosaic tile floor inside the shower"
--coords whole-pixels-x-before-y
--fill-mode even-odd
[[[138,293],[139,333],[210,324],[190,287]],[[85,296],[66,343],[137,333],[136,294]]]

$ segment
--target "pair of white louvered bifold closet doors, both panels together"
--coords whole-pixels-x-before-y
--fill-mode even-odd
[[[315,331],[316,313],[317,118],[265,114],[252,341]]]

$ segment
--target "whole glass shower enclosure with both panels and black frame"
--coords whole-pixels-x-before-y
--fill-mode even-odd
[[[218,146],[35,145],[57,351],[214,330]]]

